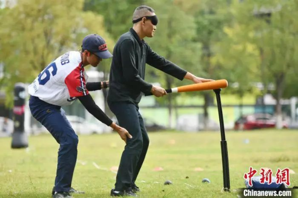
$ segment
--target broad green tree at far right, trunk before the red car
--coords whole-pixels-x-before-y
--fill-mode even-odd
[[[290,72],[297,64],[298,2],[291,1],[244,1],[235,4],[237,24],[248,35],[249,42],[260,53],[260,77],[264,87],[275,84],[277,100],[277,128],[281,128],[280,99]],[[294,80],[294,79],[293,79]],[[266,93],[266,88],[264,89]]]

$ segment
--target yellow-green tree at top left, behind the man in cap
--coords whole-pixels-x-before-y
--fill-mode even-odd
[[[5,66],[1,83],[7,104],[12,105],[16,82],[31,83],[53,58],[79,49],[87,34],[100,34],[113,45],[102,16],[83,12],[82,7],[83,0],[19,0],[0,15],[0,59]]]

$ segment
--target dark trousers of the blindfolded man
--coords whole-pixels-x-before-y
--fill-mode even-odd
[[[137,105],[130,101],[108,101],[108,104],[116,115],[119,125],[126,128],[132,136],[132,139],[127,139],[115,183],[115,190],[129,190],[135,185],[142,167],[149,146],[149,138]]]

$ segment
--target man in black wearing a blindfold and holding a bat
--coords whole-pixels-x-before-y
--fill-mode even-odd
[[[144,81],[145,64],[161,70],[179,80],[188,79],[193,83],[213,81],[196,77],[178,65],[157,54],[143,40],[153,37],[158,24],[155,11],[147,6],[135,9],[132,17],[133,27],[120,36],[114,51],[110,72],[108,104],[116,115],[120,126],[132,135],[122,153],[115,189],[112,196],[136,196],[139,188],[135,180],[145,159],[149,138],[142,116],[138,109],[141,93],[152,93],[156,97],[167,95],[164,88]]]

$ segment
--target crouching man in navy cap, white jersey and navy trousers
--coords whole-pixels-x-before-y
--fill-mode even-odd
[[[65,116],[61,106],[70,105],[79,99],[83,106],[98,120],[111,126],[121,139],[132,138],[128,131],[115,124],[94,102],[89,91],[108,87],[108,82],[86,83],[84,67],[92,67],[110,58],[105,40],[96,34],[83,39],[82,51],[69,51],[48,64],[48,66],[29,85],[29,107],[37,119],[60,144],[58,166],[53,188],[53,197],[72,197],[70,192],[73,172],[77,160],[78,136]]]

